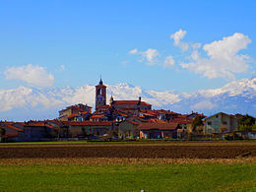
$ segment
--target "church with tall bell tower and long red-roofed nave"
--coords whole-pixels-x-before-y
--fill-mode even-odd
[[[96,110],[103,108],[113,108],[124,111],[140,111],[151,110],[152,104],[142,101],[141,96],[138,100],[114,100],[113,96],[110,97],[109,105],[106,104],[106,86],[100,78],[98,85],[96,85]]]

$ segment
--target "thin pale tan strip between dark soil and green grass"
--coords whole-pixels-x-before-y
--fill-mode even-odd
[[[200,164],[200,163],[256,163],[246,159],[125,159],[125,158],[55,158],[55,159],[1,159],[0,165],[25,164]]]

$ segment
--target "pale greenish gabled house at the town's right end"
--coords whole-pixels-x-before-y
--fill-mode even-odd
[[[205,134],[218,134],[238,130],[237,118],[233,115],[219,112],[203,119],[205,122]]]

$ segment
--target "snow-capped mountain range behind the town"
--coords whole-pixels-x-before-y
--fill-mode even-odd
[[[126,83],[107,86],[107,100],[142,99],[153,108],[189,113],[192,110],[209,115],[218,111],[249,113],[256,116],[256,77],[231,82],[223,88],[197,93],[157,92]],[[87,103],[95,106],[95,86],[77,88],[19,87],[0,91],[0,120],[52,119],[67,105]]]

